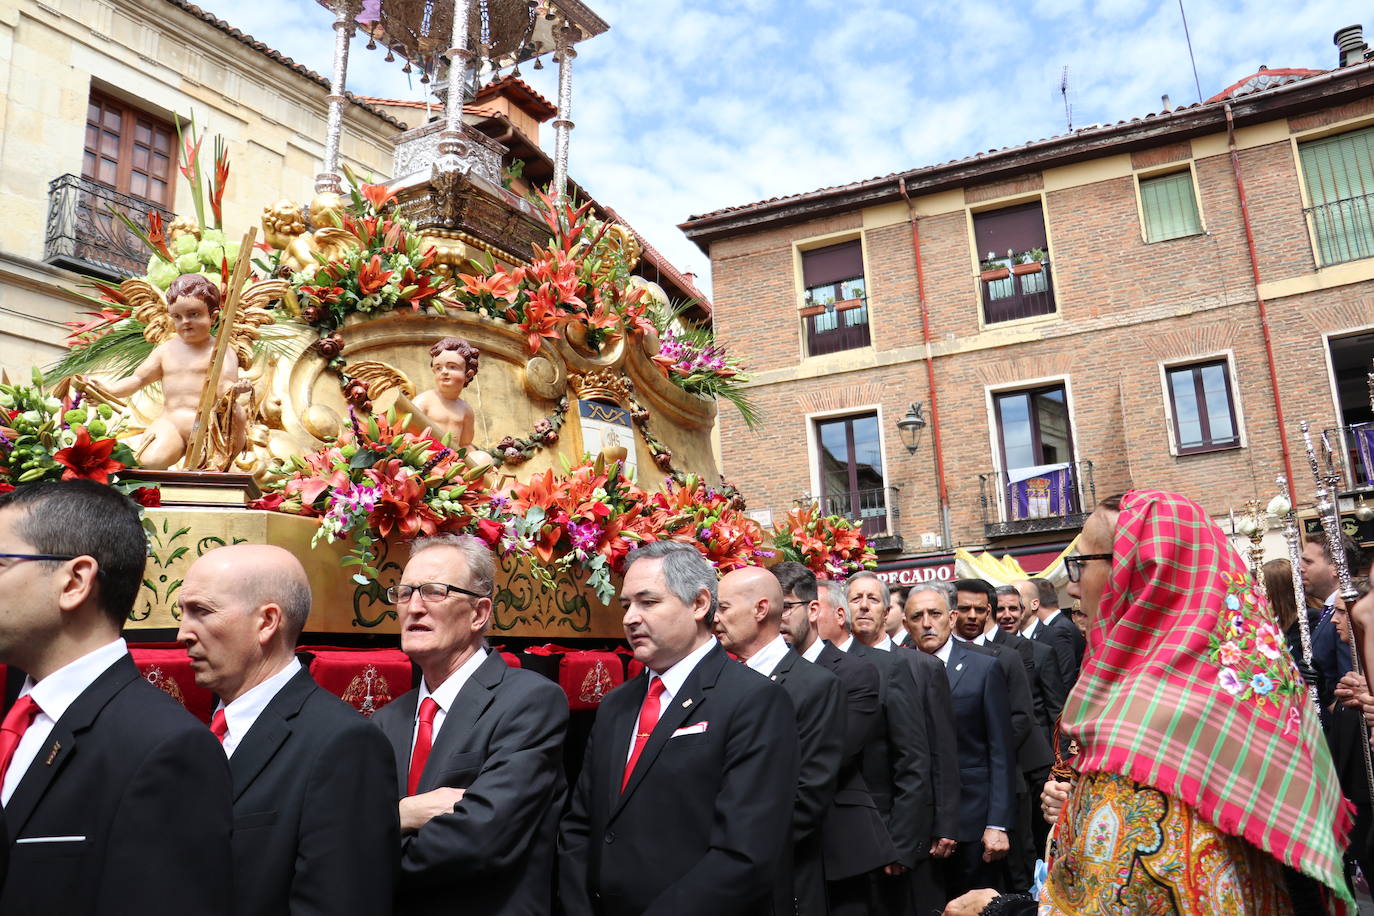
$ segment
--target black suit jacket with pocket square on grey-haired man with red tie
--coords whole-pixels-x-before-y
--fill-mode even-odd
[[[622,792],[647,691],[646,673],[607,694],[596,711],[559,831],[563,912],[790,912],[790,898],[776,894],[790,887],[778,864],[798,772],[787,694],[713,647],[665,706]]]

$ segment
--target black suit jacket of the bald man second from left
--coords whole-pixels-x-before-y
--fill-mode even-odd
[[[302,667],[234,748],[229,772],[235,913],[390,912],[396,762],[357,710]]]

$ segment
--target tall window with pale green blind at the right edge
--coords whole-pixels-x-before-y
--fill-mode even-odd
[[[1298,144],[1316,265],[1374,257],[1374,128]]]

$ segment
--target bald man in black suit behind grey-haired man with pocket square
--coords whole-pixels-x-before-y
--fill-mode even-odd
[[[826,876],[820,824],[835,797],[845,743],[845,695],[840,678],[808,663],[782,637],[782,586],[749,566],[720,580],[716,636],[725,651],[775,681],[797,713],[801,769],[791,818],[791,894],[798,916],[824,916]],[[782,869],[780,878],[787,879]]]

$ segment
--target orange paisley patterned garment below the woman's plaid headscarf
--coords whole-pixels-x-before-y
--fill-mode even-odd
[[[1080,777],[1040,916],[1293,916],[1279,862],[1125,776]]]

